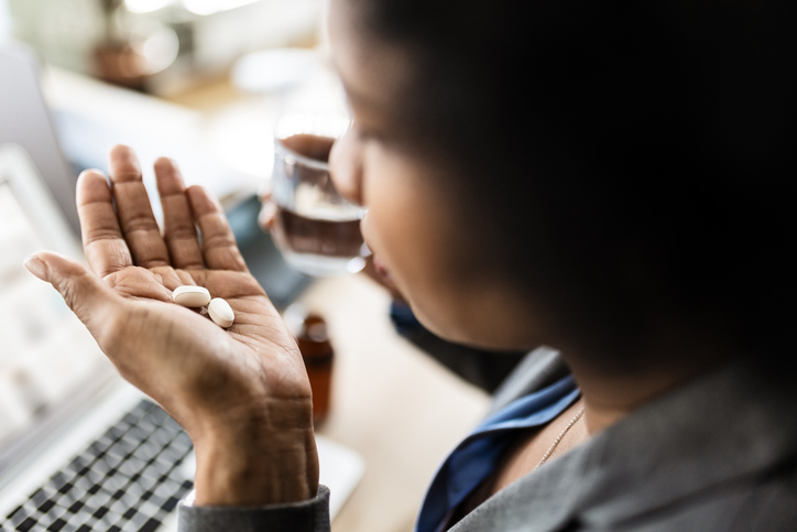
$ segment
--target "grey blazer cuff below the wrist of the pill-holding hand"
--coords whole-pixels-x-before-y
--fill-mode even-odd
[[[329,488],[314,499],[265,507],[178,507],[179,532],[329,532]]]

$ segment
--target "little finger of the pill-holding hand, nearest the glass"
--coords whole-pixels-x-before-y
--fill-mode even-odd
[[[249,271],[238,250],[236,237],[227,222],[221,205],[201,186],[186,189],[194,219],[203,236],[205,263],[214,270]]]

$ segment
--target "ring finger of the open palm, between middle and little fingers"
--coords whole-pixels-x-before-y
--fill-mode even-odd
[[[172,265],[186,270],[205,268],[179,169],[171,159],[161,158],[155,161],[155,178],[163,206],[164,238]]]

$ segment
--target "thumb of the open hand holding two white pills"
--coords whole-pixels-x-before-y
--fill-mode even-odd
[[[110,315],[108,306],[120,304],[119,295],[86,267],[58,253],[40,251],[25,259],[24,265],[51,283],[95,338],[100,338],[101,324]]]

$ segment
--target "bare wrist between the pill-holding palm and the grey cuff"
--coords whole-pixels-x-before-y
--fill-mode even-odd
[[[271,410],[271,409],[270,409]],[[245,423],[206,431],[194,442],[196,506],[265,506],[296,502],[318,492],[318,455],[312,409],[280,426],[262,413]],[[306,421],[305,421],[306,417]]]

